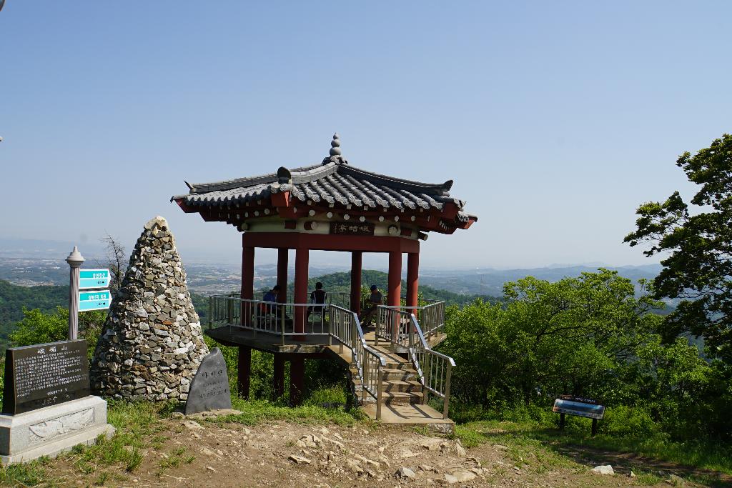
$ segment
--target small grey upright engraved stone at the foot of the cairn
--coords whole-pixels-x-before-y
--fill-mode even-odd
[[[206,354],[193,377],[185,402],[185,414],[231,408],[226,361],[219,348]]]

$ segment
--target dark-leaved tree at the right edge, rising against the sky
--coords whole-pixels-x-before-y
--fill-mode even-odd
[[[707,353],[732,363],[732,136],[676,161],[701,185],[691,199],[679,192],[638,208],[637,229],[624,241],[650,244],[646,256],[670,253],[655,279],[656,298],[681,299],[668,316],[664,336],[690,332],[705,339]]]

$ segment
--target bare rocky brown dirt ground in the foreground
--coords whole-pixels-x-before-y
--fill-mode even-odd
[[[53,461],[53,474],[69,487],[643,486],[627,471],[601,475],[572,461],[517,465],[507,446],[464,449],[410,427],[163,422],[165,436],[133,473],[100,466],[84,475],[70,455]]]

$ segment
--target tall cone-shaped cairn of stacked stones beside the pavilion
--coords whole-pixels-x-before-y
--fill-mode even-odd
[[[198,314],[163,217],[145,224],[91,362],[91,388],[132,400],[185,400],[201,360]]]

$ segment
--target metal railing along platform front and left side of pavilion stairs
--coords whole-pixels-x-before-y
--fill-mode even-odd
[[[308,315],[310,309],[310,315]],[[242,313],[243,311],[243,313]],[[310,320],[315,316],[315,320]],[[300,321],[296,323],[296,317]],[[209,297],[209,329],[229,326],[258,333],[277,335],[285,344],[288,336],[327,336],[351,350],[351,364],[362,385],[361,402],[366,394],[376,399],[376,419],[381,418],[381,380],[386,361],[366,343],[355,312],[334,304],[280,304],[239,298],[239,293]]]

